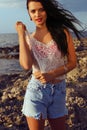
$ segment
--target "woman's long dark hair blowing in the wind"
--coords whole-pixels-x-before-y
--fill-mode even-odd
[[[72,30],[80,40],[81,33],[75,27],[75,23],[80,25],[80,21],[70,11],[64,9],[56,0],[27,0],[27,9],[30,1],[40,2],[43,5],[47,13],[47,28],[60,51],[66,55],[68,53],[68,44],[64,30]]]

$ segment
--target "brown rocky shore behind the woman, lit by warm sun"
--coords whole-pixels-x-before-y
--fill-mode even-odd
[[[87,41],[74,39],[77,67],[66,77],[67,130],[87,130]],[[18,45],[0,48],[0,59],[18,59]],[[1,67],[1,66],[0,66]],[[23,98],[31,72],[0,75],[0,130],[28,130],[21,113]],[[48,121],[45,130],[50,130]]]

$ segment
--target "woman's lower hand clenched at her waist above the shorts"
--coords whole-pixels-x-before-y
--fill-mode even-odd
[[[52,82],[54,80],[54,75],[51,72],[41,73],[40,71],[35,72],[34,76],[36,79],[40,80],[41,83]]]

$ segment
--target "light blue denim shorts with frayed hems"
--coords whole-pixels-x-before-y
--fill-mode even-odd
[[[42,84],[32,76],[28,83],[22,112],[35,119],[59,118],[67,115],[65,80]]]

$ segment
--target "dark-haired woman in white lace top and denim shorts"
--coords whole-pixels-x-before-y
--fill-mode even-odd
[[[52,130],[65,130],[65,74],[76,67],[69,29],[79,38],[78,20],[55,0],[27,0],[27,10],[36,30],[30,35],[16,23],[20,64],[32,68],[22,111],[30,130],[44,130],[45,119]]]

